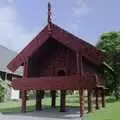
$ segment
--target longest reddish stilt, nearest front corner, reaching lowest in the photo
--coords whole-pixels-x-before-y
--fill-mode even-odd
[[[83,115],[84,115],[84,90],[81,89],[79,91],[80,95],[80,118],[83,120]]]

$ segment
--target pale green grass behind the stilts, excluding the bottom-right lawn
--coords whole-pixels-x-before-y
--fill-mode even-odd
[[[79,97],[78,95],[67,95],[67,106],[77,107],[79,106]],[[51,105],[51,98],[45,97],[42,100],[42,104],[44,108],[50,108]],[[56,106],[59,109],[60,105],[60,98],[57,97],[56,99]],[[20,112],[21,111],[21,101],[7,101],[4,103],[0,103],[0,112]],[[35,100],[27,101],[27,111],[34,111],[35,110]]]

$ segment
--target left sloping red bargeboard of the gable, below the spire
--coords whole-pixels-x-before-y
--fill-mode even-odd
[[[8,68],[15,72],[28,58],[34,53],[34,51],[42,46],[48,39],[47,26],[37,35],[9,64]]]

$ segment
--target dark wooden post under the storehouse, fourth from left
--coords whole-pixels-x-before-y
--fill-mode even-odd
[[[66,91],[65,90],[61,90],[61,94],[60,94],[60,112],[65,112],[65,104],[66,104]]]

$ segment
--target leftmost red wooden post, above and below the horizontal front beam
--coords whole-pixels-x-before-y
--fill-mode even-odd
[[[24,75],[23,75],[23,77],[27,77],[27,76],[28,76],[28,60],[24,63]],[[27,91],[22,90],[21,94],[22,94],[21,112],[25,113],[26,112]]]

